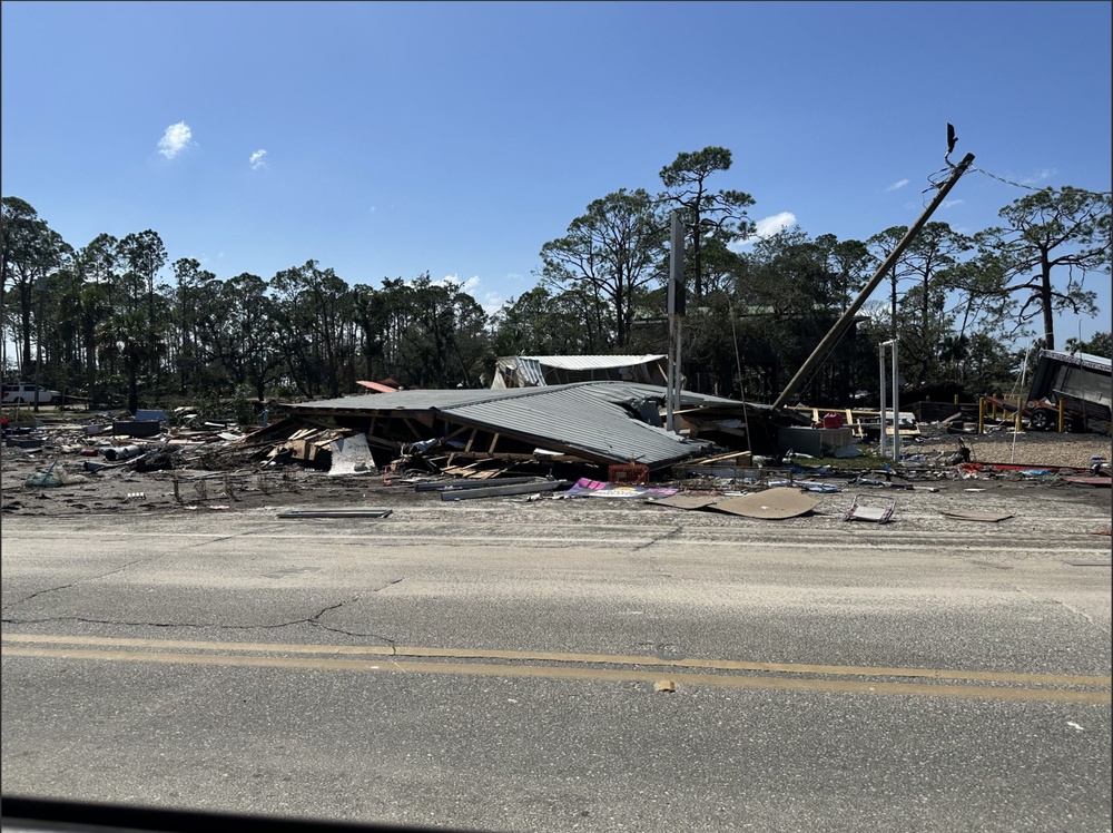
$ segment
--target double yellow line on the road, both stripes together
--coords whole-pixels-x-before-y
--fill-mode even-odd
[[[526,677],[676,686],[1109,704],[1111,678],[1065,674],[884,668],[615,654],[223,643],[3,634],[4,657],[243,668]],[[707,673],[719,672],[719,673]],[[897,680],[956,682],[897,682]]]

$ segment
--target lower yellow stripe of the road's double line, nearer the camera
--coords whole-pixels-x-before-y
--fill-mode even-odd
[[[124,650],[86,650],[81,648],[6,647],[6,657],[40,657],[55,659],[93,659],[116,663],[156,663],[164,665],[198,665],[248,668],[295,668],[336,672],[380,672],[401,674],[440,674],[479,677],[524,677],[593,682],[651,683],[660,674],[648,670],[613,668],[577,668],[554,666],[495,665],[482,663],[420,663],[373,659],[339,659],[333,657],[259,657],[220,654],[152,654]],[[674,674],[670,679],[678,686],[715,686],[719,688],[826,692],[839,694],[889,694],[916,697],[961,697],[984,700],[1042,700],[1060,703],[1110,703],[1109,692],[1048,690],[1041,688],[993,688],[987,686],[939,685],[920,683],[869,683],[847,679],[799,679],[786,677],[740,677],[715,674]]]

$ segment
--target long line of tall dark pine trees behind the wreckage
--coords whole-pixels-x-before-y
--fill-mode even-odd
[[[771,401],[907,227],[865,241],[798,226],[758,237],[752,197],[715,187],[730,167],[726,148],[682,153],[658,194],[592,200],[541,246],[536,285],[493,315],[429,273],[373,287],[308,259],[269,278],[221,278],[195,258],[170,261],[151,229],[76,248],[29,203],[3,197],[6,376],[29,378],[40,362],[43,384],[98,402],[126,393],[134,411],[140,398],[338,396],[358,380],[484,386],[500,355],[663,353],[677,212],[686,384]],[[1110,274],[1110,214],[1109,193],[1063,187],[1022,196],[976,234],[926,224],[886,276],[887,297],[864,307],[802,400],[843,405],[875,391],[877,344],[895,336],[912,395],[1007,385],[1018,361],[1007,345],[1038,334],[1055,347],[1056,314],[1096,314],[1084,280]],[[1064,346],[1109,355],[1109,341]]]

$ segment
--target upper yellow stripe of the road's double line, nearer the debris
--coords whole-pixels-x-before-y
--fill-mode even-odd
[[[506,659],[513,661],[574,663],[590,665],[649,666],[667,669],[705,668],[727,672],[811,674],[840,677],[918,677],[925,679],[966,679],[981,683],[1020,685],[1110,686],[1110,677],[1066,674],[1014,674],[1006,672],[947,670],[936,668],[886,668],[878,666],[807,665],[798,663],[749,663],[731,659],[663,659],[653,656],[621,654],[570,654],[544,650],[498,650],[432,648],[387,645],[297,645],[279,643],[223,643],[190,639],[135,639],[126,637],[62,636],[53,634],[2,634],[6,643],[36,645],[83,645],[98,647],[145,648],[151,650],[249,651],[253,654],[325,654],[333,656],[378,656],[391,658]],[[26,656],[26,655],[24,655]],[[407,663],[407,667],[415,667]],[[454,666],[461,667],[461,666]],[[640,677],[639,677],[640,678]]]

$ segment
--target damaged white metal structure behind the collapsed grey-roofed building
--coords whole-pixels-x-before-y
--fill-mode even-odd
[[[574,382],[663,385],[668,378],[664,355],[511,355],[495,361],[491,388],[545,388]]]

